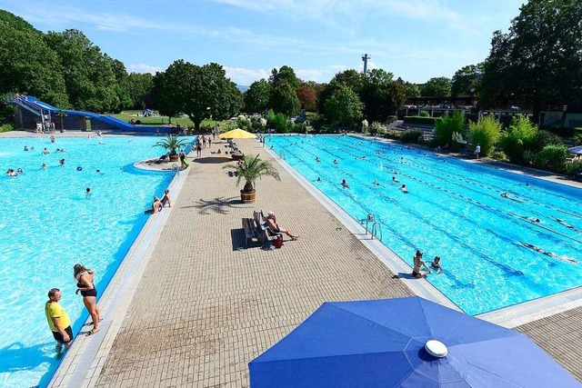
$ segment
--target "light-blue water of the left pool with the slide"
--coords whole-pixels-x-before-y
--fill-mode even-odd
[[[88,314],[75,295],[73,265],[95,268],[95,285],[103,293],[146,223],[144,210],[173,178],[133,166],[164,153],[152,147],[157,140],[57,138],[51,144],[48,138],[0,139],[2,173],[24,170],[16,177],[0,175],[0,386],[50,381],[58,361],[45,319],[46,293],[61,289],[76,333]],[[25,152],[25,145],[35,151]],[[44,147],[51,154],[41,154]],[[55,153],[56,148],[66,152]],[[87,187],[93,193],[89,198]]]

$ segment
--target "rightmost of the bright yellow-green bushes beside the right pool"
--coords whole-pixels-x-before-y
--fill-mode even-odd
[[[507,132],[501,134],[500,144],[512,163],[524,163],[524,152],[534,150],[538,129],[525,114],[511,119]]]

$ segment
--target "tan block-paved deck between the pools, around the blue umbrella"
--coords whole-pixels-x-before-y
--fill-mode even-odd
[[[223,169],[228,160],[210,154],[218,146],[224,152],[224,144],[189,157],[190,168],[173,183],[179,184],[173,207],[163,220],[152,219],[153,235],[144,236],[150,245],[135,253],[141,264],[122,268],[135,286],[125,292],[117,284],[125,299],[105,301],[103,327],[115,330],[77,346],[94,346],[96,359],[65,358],[65,368],[85,363],[91,374],[54,380],[53,386],[247,387],[247,363],[323,302],[416,293],[449,305],[427,282],[396,278],[409,267],[311,194],[285,162],[278,164],[256,141],[238,143],[245,154],[275,160],[281,182],[264,177],[256,184],[256,203],[241,204],[236,178]],[[274,251],[246,249],[241,218],[255,209],[274,211],[299,240]],[[523,324],[519,311],[511,322],[582,381],[579,300],[574,295],[570,304],[554,303],[543,318]],[[123,308],[109,307],[114,304]],[[535,316],[537,304],[529,310]]]

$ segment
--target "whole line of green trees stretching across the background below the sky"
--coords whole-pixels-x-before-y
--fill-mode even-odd
[[[128,74],[78,30],[43,34],[0,11],[0,93],[94,112],[149,107],[169,116],[187,114],[196,128],[205,118],[269,110],[286,117],[315,111],[323,122],[342,126],[363,118],[385,122],[406,97],[419,95],[477,95],[481,108],[523,104],[537,117],[547,105],[582,104],[582,2],[529,0],[507,33],[493,34],[487,58],[450,79],[415,85],[372,69],[366,75],[346,70],[319,84],[299,79],[285,65],[244,95],[221,65],[178,60],[156,75]]]

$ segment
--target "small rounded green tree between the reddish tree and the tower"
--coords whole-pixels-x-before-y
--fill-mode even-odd
[[[334,124],[354,126],[362,117],[364,104],[351,88],[339,85],[326,99],[326,114]]]

